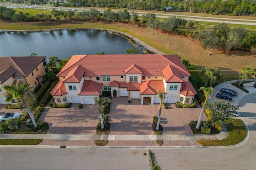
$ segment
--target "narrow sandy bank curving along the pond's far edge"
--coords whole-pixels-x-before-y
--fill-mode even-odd
[[[108,32],[115,32],[118,34],[122,34],[126,37],[131,38],[132,40],[136,41],[143,47],[145,47],[148,51],[151,51],[154,54],[164,54],[162,51],[159,51],[158,49],[155,49],[154,47],[151,47],[150,45],[140,41],[138,38],[131,36],[130,34],[119,32],[116,30],[110,30],[110,29],[100,29],[100,28],[48,28],[48,29],[35,29],[35,30],[6,30],[6,29],[0,29],[0,31],[3,32],[43,32],[43,31],[56,31],[56,30],[85,30],[85,29],[94,29],[94,30],[104,30]]]

